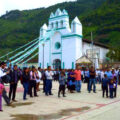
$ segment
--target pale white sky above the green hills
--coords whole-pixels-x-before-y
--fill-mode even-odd
[[[57,3],[76,0],[0,0],[0,16],[10,10],[27,10],[48,7]]]

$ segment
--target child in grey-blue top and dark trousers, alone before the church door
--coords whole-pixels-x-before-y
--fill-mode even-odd
[[[62,91],[63,97],[65,96],[65,73],[61,72],[60,77],[59,77],[59,91],[58,91],[58,97],[60,97],[60,93]]]

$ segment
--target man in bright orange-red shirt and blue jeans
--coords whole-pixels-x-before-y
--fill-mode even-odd
[[[76,70],[74,71],[74,73],[75,73],[75,80],[76,80],[76,91],[81,92],[82,81],[81,81],[81,70],[79,66],[76,67]]]

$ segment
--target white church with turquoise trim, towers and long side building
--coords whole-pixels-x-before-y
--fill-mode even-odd
[[[82,24],[77,17],[69,24],[69,15],[66,10],[57,9],[51,13],[48,26],[40,28],[39,65],[43,68],[75,68],[78,58],[86,54],[91,56],[91,42],[82,39]],[[97,51],[98,53],[93,53]],[[102,44],[94,43],[93,56],[98,61],[105,59],[108,48]],[[97,62],[95,63],[97,64]]]

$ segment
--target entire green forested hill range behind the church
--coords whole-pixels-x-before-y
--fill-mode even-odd
[[[64,2],[48,8],[14,10],[0,17],[0,56],[39,36],[40,27],[51,12],[66,9],[70,21],[78,16],[83,24],[84,38],[105,44],[120,43],[120,2],[118,0],[77,0]],[[116,43],[117,42],[117,43]]]

